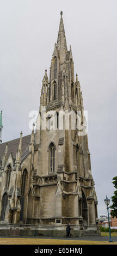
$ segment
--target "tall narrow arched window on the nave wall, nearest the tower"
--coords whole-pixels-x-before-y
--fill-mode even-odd
[[[28,173],[27,169],[24,169],[22,174],[22,185],[21,185],[21,198],[20,198],[20,204],[21,204],[21,212],[20,212],[20,221],[23,221],[23,209],[24,209],[24,196],[26,192],[26,179],[27,179]]]

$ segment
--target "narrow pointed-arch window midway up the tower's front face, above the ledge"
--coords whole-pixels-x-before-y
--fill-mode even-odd
[[[54,170],[55,170],[55,146],[53,143],[50,144],[50,147],[49,147],[49,157],[50,157],[50,173],[53,173]]]

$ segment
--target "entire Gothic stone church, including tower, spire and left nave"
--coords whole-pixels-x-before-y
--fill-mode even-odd
[[[71,46],[67,50],[62,11],[60,15],[50,78],[45,70],[42,80],[40,123],[36,121],[35,129],[33,124],[31,135],[22,137],[21,132],[20,138],[2,143],[1,112],[0,235],[65,236],[68,222],[72,236],[98,232],[87,133],[80,134],[77,126],[59,127],[60,111],[79,111],[84,122],[81,86],[74,76]],[[56,113],[55,129],[42,129],[42,107],[49,127]]]

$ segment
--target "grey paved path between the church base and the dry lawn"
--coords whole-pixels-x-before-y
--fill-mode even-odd
[[[0,236],[0,238],[30,238],[30,239],[59,239],[59,240],[82,240],[82,241],[109,241],[109,236],[82,236],[82,237],[45,237],[45,236]],[[117,242],[117,236],[112,236],[112,241]]]

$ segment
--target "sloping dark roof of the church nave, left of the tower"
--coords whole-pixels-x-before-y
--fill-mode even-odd
[[[29,151],[30,136],[31,135],[22,137],[22,155],[24,153],[26,153],[27,151]],[[0,160],[2,160],[2,157],[4,155],[6,143],[8,143],[8,157],[9,157],[10,153],[12,153],[13,157],[15,158],[17,149],[19,148],[19,142],[20,142],[20,138],[13,139],[13,141],[1,143],[0,144]]]

